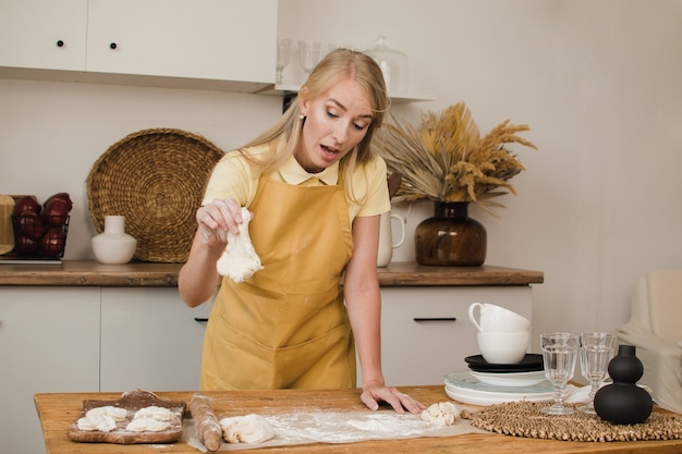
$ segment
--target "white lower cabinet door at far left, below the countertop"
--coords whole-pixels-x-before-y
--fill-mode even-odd
[[[99,289],[0,287],[0,446],[45,453],[34,395],[99,390]]]

